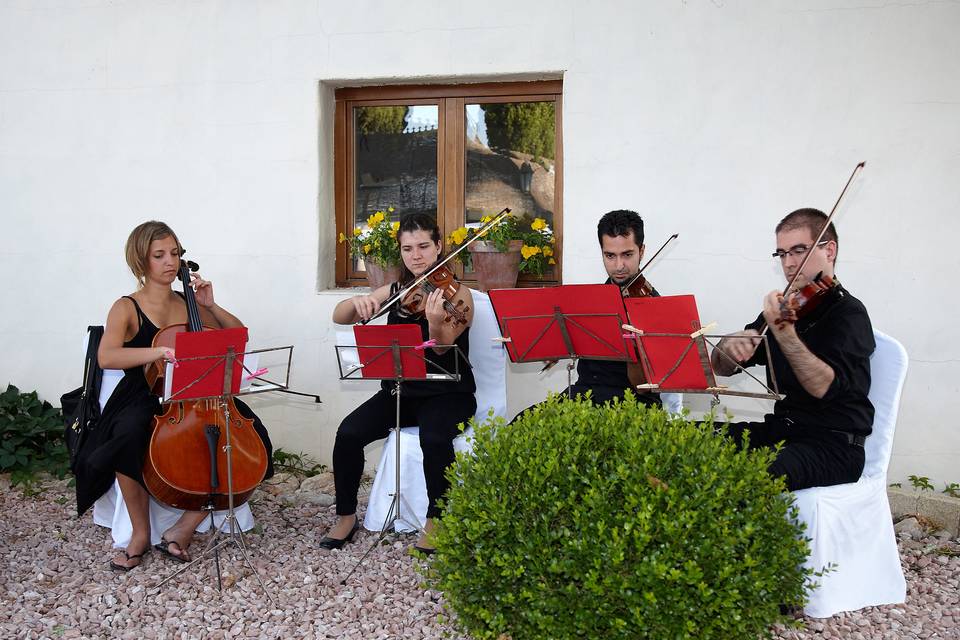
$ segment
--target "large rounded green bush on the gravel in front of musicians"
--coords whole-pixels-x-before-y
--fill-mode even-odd
[[[772,454],[712,431],[633,396],[478,426],[428,582],[476,638],[769,636],[803,602],[807,540]]]

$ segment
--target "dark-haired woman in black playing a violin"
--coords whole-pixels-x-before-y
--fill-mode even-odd
[[[333,321],[351,324],[373,317],[381,305],[400,291],[406,284],[431,268],[443,250],[440,230],[436,221],[426,214],[408,214],[400,220],[397,242],[403,260],[401,282],[385,285],[371,292],[340,302],[333,310]],[[469,293],[463,285],[464,293]],[[404,317],[397,306],[391,307],[388,324],[420,325],[424,341],[435,340],[438,345],[456,344],[463,357],[469,352],[469,325],[473,319],[472,306],[465,310],[466,322],[455,321],[450,314],[450,303],[445,301],[442,288],[426,295],[422,312]],[[456,350],[431,347],[427,358],[447,371],[454,370]],[[439,369],[428,365],[428,371]],[[473,417],[477,408],[474,397],[476,385],[468,362],[460,362],[458,382],[404,382],[400,396],[400,421],[402,426],[420,426],[420,447],[423,449],[423,473],[427,484],[427,524],[425,532],[416,544],[421,551],[430,552],[428,535],[434,518],[440,515],[437,500],[449,486],[444,471],[454,460],[453,440],[460,433],[461,422]],[[337,430],[333,448],[333,473],[337,493],[336,524],[330,529],[320,546],[339,549],[353,539],[359,528],[357,520],[357,491],[363,473],[363,448],[387,437],[396,421],[396,401],[391,395],[392,383],[384,381],[376,395],[357,407],[344,418]]]

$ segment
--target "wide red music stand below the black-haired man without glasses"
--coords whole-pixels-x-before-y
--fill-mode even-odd
[[[510,361],[569,360],[568,392],[579,358],[637,361],[621,329],[627,314],[616,285],[494,289],[490,302]]]

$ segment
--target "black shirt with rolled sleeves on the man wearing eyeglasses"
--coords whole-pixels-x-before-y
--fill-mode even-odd
[[[870,355],[876,348],[873,326],[863,303],[837,285],[837,289],[809,315],[797,321],[797,335],[807,348],[833,369],[834,378],[823,398],[811,396],[797,380],[777,339],[769,335],[770,359],[779,391],[784,395],[773,406],[774,418],[789,419],[806,427],[819,427],[869,435],[873,429],[870,392]],[[759,330],[763,314],[744,329]],[[766,365],[763,343],[744,367]],[[770,371],[767,384],[772,386]],[[768,416],[769,418],[769,416]]]

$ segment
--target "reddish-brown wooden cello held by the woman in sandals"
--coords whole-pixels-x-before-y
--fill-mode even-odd
[[[190,271],[199,267],[180,261],[187,322],[161,329],[154,347],[173,348],[183,331],[211,330],[200,320],[200,308],[190,285]],[[163,390],[163,364],[146,365],[147,384],[154,393]],[[159,394],[158,394],[159,395]],[[230,447],[226,446],[226,421]],[[228,460],[228,456],[231,459]],[[154,498],[187,511],[226,509],[230,506],[226,470],[230,467],[233,506],[246,502],[267,471],[267,450],[232,398],[174,401],[153,419],[150,445],[143,464],[143,480]]]

